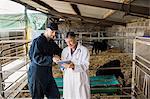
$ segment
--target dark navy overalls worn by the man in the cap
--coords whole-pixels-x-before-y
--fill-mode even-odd
[[[61,49],[53,41],[48,41],[41,34],[33,40],[29,51],[31,60],[28,71],[28,83],[31,94],[34,94],[37,85],[41,87],[43,93],[49,92],[50,96],[59,96],[59,91],[52,75],[52,57],[60,55]]]

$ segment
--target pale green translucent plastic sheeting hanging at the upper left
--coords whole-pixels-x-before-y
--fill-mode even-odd
[[[33,30],[40,29],[47,20],[42,13],[28,13],[28,26]],[[0,14],[0,29],[24,29],[25,14]]]

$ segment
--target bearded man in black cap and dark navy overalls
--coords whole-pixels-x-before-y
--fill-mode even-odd
[[[29,51],[31,63],[28,71],[28,85],[32,99],[43,99],[44,95],[48,99],[60,98],[52,74],[53,58],[59,60],[61,54],[61,49],[54,42],[57,29],[56,23],[50,23],[45,32],[32,41]]]

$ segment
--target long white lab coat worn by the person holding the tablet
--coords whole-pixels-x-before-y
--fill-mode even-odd
[[[74,70],[67,68],[63,77],[64,99],[90,99],[90,85],[88,78],[89,51],[78,43],[75,52],[71,55],[69,47],[62,51],[63,60],[71,60],[75,64]]]

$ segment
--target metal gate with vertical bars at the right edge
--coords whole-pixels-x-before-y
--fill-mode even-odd
[[[139,99],[150,99],[150,38],[134,40],[132,94]]]

